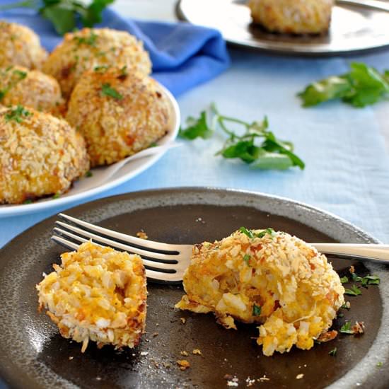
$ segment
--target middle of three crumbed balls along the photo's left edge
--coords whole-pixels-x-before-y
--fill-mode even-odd
[[[23,66],[0,68],[0,103],[6,107],[20,104],[56,116],[64,108],[58,81]]]

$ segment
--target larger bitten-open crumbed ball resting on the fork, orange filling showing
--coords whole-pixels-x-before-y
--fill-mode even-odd
[[[226,328],[236,329],[235,320],[260,324],[257,344],[267,356],[310,349],[344,303],[338,274],[295,236],[250,232],[194,247],[176,308],[214,312]]]

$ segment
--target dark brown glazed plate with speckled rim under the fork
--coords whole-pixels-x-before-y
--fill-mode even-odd
[[[66,213],[101,226],[135,234],[144,229],[153,240],[167,243],[199,243],[227,236],[240,226],[272,227],[307,241],[373,242],[349,223],[318,209],[263,194],[184,188],[125,194],[83,204]],[[61,247],[50,241],[54,218],[37,224],[0,251],[0,375],[13,388],[226,388],[230,374],[245,388],[388,388],[388,274],[385,269],[366,269],[355,262],[359,274],[373,272],[381,286],[363,289],[349,297],[351,310],[336,320],[363,320],[361,337],[339,335],[310,351],[292,349],[272,357],[262,355],[255,344],[255,325],[225,330],[213,315],[175,310],[181,286],[149,284],[147,334],[137,349],[115,352],[61,337],[50,319],[37,313],[35,284],[42,272],[59,262]],[[339,274],[347,274],[352,261],[333,260]],[[381,291],[381,295],[380,295]],[[382,299],[381,296],[385,296]],[[180,318],[185,318],[182,324]],[[158,335],[156,333],[158,332]],[[328,352],[337,347],[337,355]],[[202,356],[193,355],[200,349]],[[189,356],[180,355],[187,351]],[[191,367],[180,371],[178,359]],[[376,365],[382,362],[383,366]],[[296,376],[303,373],[303,378]]]

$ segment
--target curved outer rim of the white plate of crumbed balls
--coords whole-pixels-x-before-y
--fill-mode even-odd
[[[158,83],[158,81],[156,81]],[[171,111],[173,115],[173,125],[168,134],[163,137],[163,141],[161,144],[166,144],[168,141],[174,141],[178,136],[178,131],[180,129],[181,115],[180,115],[180,107],[178,105],[177,100],[175,100],[174,96],[167,88],[165,88],[161,83],[158,83],[158,86],[163,90],[163,93],[166,94],[169,103],[171,105]],[[54,207],[62,207],[66,204],[72,203],[74,206],[76,202],[82,199],[86,199],[88,197],[92,197],[95,194],[100,194],[106,190],[110,190],[113,187],[117,187],[122,183],[136,177],[140,173],[143,173],[145,170],[150,168],[154,163],[156,163],[168,150],[161,150],[159,153],[156,153],[153,156],[148,156],[142,158],[141,166],[135,168],[129,173],[122,175],[119,178],[112,178],[108,180],[103,185],[98,187],[93,187],[89,190],[85,190],[84,192],[69,195],[66,197],[59,197],[57,199],[47,199],[42,202],[33,202],[31,204],[2,204],[0,205],[0,219],[9,217],[9,216],[19,216],[25,214],[33,214],[38,211],[47,211],[48,209],[52,209]],[[71,190],[70,190],[71,192]]]

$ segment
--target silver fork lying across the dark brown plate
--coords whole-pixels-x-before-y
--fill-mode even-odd
[[[66,214],[58,215],[64,221],[56,221],[52,240],[66,248],[77,250],[81,243],[93,240],[122,251],[139,254],[146,267],[146,277],[157,281],[182,281],[185,269],[189,266],[193,245],[170,245],[153,242],[109,230]],[[349,244],[349,243],[310,243],[320,252],[339,257],[352,257],[359,260],[389,264],[389,245]]]

